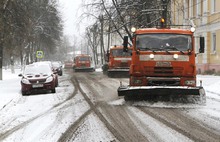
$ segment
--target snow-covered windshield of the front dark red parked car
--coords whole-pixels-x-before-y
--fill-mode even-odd
[[[51,74],[51,68],[49,65],[42,64],[42,65],[27,65],[24,70],[24,75],[31,75],[31,74]]]

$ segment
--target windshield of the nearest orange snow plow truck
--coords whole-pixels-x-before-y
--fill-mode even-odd
[[[136,48],[152,51],[187,51],[192,50],[192,37],[168,33],[137,35]]]

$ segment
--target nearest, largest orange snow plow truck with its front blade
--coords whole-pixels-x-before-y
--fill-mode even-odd
[[[125,100],[140,96],[192,96],[205,103],[203,87],[196,86],[196,48],[191,30],[174,28],[135,29],[128,86],[120,83],[118,96]],[[204,37],[200,53],[204,53]],[[127,50],[128,37],[124,37]]]

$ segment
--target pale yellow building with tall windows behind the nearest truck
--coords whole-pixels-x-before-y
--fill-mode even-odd
[[[205,37],[205,53],[196,58],[197,72],[220,72],[220,0],[173,0],[171,7],[173,24],[195,24],[197,52],[199,37]]]

